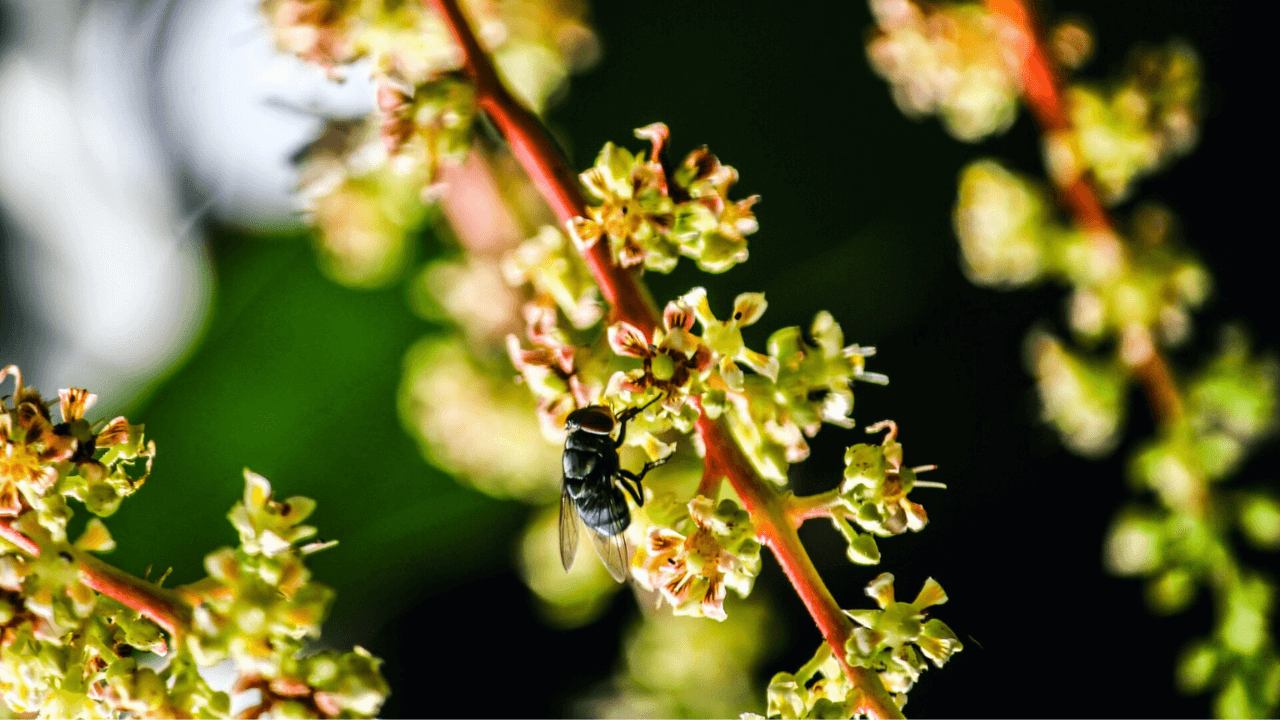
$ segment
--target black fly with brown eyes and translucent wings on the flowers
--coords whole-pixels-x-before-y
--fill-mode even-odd
[[[659,396],[660,397],[660,396]],[[627,577],[631,552],[622,532],[631,524],[631,511],[623,489],[644,505],[640,480],[671,459],[671,455],[645,462],[639,474],[626,470],[618,461],[618,448],[627,436],[627,421],[649,407],[653,398],[640,407],[628,407],[613,416],[603,405],[575,410],[564,421],[564,482],[561,491],[561,562],[567,571],[577,555],[577,519],[591,529],[595,552],[620,583]],[[613,427],[618,439],[613,439]]]

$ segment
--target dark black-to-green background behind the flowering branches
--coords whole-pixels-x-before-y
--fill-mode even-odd
[[[1258,102],[1270,88],[1252,58],[1266,38],[1242,36],[1244,13],[1228,4],[1041,9],[1092,23],[1097,51],[1085,78],[1120,72],[1137,44],[1181,37],[1201,54],[1201,145],[1134,193],[1176,211],[1215,277],[1197,333],[1172,361],[1175,370],[1196,368],[1225,322],[1244,322],[1274,351],[1274,264],[1263,258],[1275,233],[1263,192],[1275,131],[1261,131],[1270,120]],[[1208,633],[1208,600],[1156,618],[1138,582],[1102,570],[1106,528],[1130,498],[1123,459],[1152,433],[1144,400],[1130,397],[1128,439],[1111,457],[1064,451],[1038,420],[1023,364],[1032,325],[1061,327],[1062,290],[996,292],[969,284],[959,269],[950,219],[957,173],[996,156],[1042,176],[1030,119],[1021,114],[1006,135],[974,146],[933,119],[904,118],[868,68],[870,17],[861,3],[602,0],[593,14],[603,61],[575,78],[550,114],[573,165],[589,165],[608,140],[643,147],[632,128],[662,120],[677,156],[708,143],[741,173],[735,197],[764,197],[749,263],[717,277],[682,263],[671,275],[649,275],[655,297],[694,284],[713,297],[764,291],[769,311],[746,332],[753,347],[776,328],[832,311],[850,342],[879,348],[869,366],[892,379],[856,388],[859,424],[897,420],[908,461],[938,464],[929,479],[950,486],[918,491],[931,524],[881,542],[877,568],[850,565],[824,524],[801,532],[842,606],[864,605],[863,585],[884,570],[902,596],[931,575],[947,589],[951,602],[936,615],[965,650],[925,673],[908,711],[1207,715],[1207,697],[1176,693],[1172,667],[1189,639]],[[613,673],[635,602],[620,594],[585,629],[544,628],[511,569],[527,509],[456,484],[421,460],[396,418],[396,387],[410,343],[439,329],[411,314],[403,284],[356,292],[325,281],[301,236],[209,229],[215,315],[191,359],[129,411],[148,425],[160,455],[146,491],[110,521],[120,543],[113,561],[133,571],[172,565],[175,583],[198,578],[200,557],[234,541],[223,518],[248,465],[282,495],[320,501],[315,524],[342,541],[314,561],[339,591],[326,641],[358,642],[387,660],[385,715],[573,712],[573,698]],[[422,255],[434,247],[424,238]],[[844,447],[864,437],[824,428],[813,457],[795,469],[797,492],[832,487]],[[1233,482],[1274,482],[1275,447],[1256,452]],[[1275,566],[1274,556],[1245,555]],[[808,660],[819,635],[772,559],[756,592],[771,596],[782,623],[756,682],[763,698],[767,678]]]

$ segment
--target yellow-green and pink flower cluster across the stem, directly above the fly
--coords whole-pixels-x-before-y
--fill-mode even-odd
[[[571,268],[570,259],[561,266]],[[865,369],[874,350],[845,346],[844,333],[828,313],[819,313],[810,328],[773,333],[768,354],[746,347],[742,328],[756,323],[768,307],[758,292],[739,295],[732,314],[719,319],[707,291],[694,288],[668,302],[662,324],[649,333],[627,322],[609,325],[604,340],[612,354],[602,352],[599,341],[582,347],[577,342],[582,333],[559,324],[564,305],[573,307],[576,301],[557,304],[543,290],[554,284],[549,278],[562,277],[531,278],[538,295],[526,304],[525,316],[532,348],[508,337],[512,363],[538,398],[539,418],[552,439],[563,438],[571,411],[600,402],[600,397],[627,406],[659,398],[628,434],[628,443],[645,446],[650,459],[669,451],[654,434],[672,428],[687,433],[703,413],[713,418],[724,414],[756,469],[785,483],[787,464],[809,455],[805,437],[813,437],[824,421],[852,425],[852,380],[887,382]],[[694,332],[695,324],[701,334]],[[639,366],[628,365],[628,359]]]

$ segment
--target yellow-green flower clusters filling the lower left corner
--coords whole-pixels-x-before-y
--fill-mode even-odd
[[[0,400],[0,482],[6,503],[0,521],[9,541],[0,548],[0,700],[14,712],[42,717],[227,717],[227,693],[214,692],[197,665],[230,653],[241,689],[257,688],[262,703],[247,716],[372,716],[387,694],[380,661],[353,653],[303,656],[303,638],[319,634],[332,591],[308,582],[298,547],[312,528],[298,525],[314,507],[307,498],[270,500],[266,480],[250,475],[246,502],[232,512],[239,551],[209,556],[214,578],[179,588],[151,585],[165,602],[192,605],[193,625],[170,647],[160,628],[138,611],[90,588],[87,573],[115,542],[92,518],[68,542],[65,498],[109,515],[146,479],[155,445],[124,418],[90,423],[95,397],[60,392],[61,423],[47,402],[24,387],[17,368],[13,407]],[[26,538],[26,539],[24,539]],[[123,582],[123,580],[122,580]],[[136,580],[140,585],[146,583]],[[141,664],[140,652],[165,657]]]

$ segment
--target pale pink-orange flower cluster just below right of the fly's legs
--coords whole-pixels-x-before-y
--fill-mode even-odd
[[[751,516],[732,500],[716,505],[703,496],[686,509],[682,519],[649,527],[631,574],[645,589],[658,591],[675,615],[724,620],[726,589],[746,597],[760,573]]]

